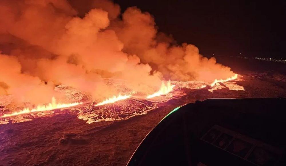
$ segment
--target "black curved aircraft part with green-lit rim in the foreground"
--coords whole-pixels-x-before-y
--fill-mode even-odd
[[[286,165],[283,98],[208,99],[174,109],[128,165]]]

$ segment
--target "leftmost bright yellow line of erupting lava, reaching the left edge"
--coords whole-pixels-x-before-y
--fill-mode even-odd
[[[19,112],[14,112],[12,114],[4,114],[3,116],[1,116],[1,118],[5,118],[5,117],[9,117],[9,116],[16,116],[16,115],[20,115],[20,114],[28,114],[31,112],[38,112],[38,111],[48,111],[48,110],[55,110],[55,109],[59,109],[59,108],[67,108],[67,107],[72,107],[72,106],[77,106],[79,104],[83,104],[82,102],[80,103],[69,103],[69,104],[61,104],[61,103],[57,103],[56,99],[54,97],[52,97],[52,102],[49,103],[48,105],[38,105],[37,108],[34,108],[32,110],[30,110],[29,108],[24,108],[23,110],[20,110]]]

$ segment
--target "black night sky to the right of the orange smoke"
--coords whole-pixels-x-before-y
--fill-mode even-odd
[[[115,0],[155,17],[159,31],[204,55],[286,58],[286,1]]]

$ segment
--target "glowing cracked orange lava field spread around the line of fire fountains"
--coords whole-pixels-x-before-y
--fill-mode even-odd
[[[0,96],[0,105],[2,107],[0,111],[0,125],[27,122],[35,120],[36,118],[55,116],[64,113],[76,114],[79,119],[86,121],[88,124],[100,121],[126,120],[133,116],[147,114],[148,111],[159,108],[158,104],[182,98],[182,96],[202,89],[209,91],[208,93],[220,89],[244,91],[243,86],[237,84],[237,82],[242,80],[242,76],[239,76],[239,78],[235,80],[224,80],[225,82],[221,81],[213,84],[202,81],[171,81],[169,82],[170,90],[168,90],[166,94],[155,94],[155,97],[153,95],[151,98],[146,98],[146,95],[138,96],[138,94],[130,94],[132,93],[132,90],[128,90],[125,86],[126,84],[122,84],[122,80],[106,79],[108,83],[112,82],[112,86],[118,86],[118,89],[120,89],[121,92],[125,91],[125,93],[130,94],[128,98],[124,98],[124,100],[115,103],[106,102],[106,104],[100,104],[99,101],[93,101],[88,95],[72,87],[60,85],[57,86],[55,90],[64,94],[69,103],[76,102],[76,104],[68,108],[63,108],[64,106],[61,107],[60,104],[59,107],[57,107],[58,104],[54,98],[54,104],[50,104],[49,109],[46,109],[45,106],[41,106],[40,108],[42,109],[34,110],[35,112],[31,111],[29,102],[20,106],[19,104],[12,102],[12,96]],[[162,84],[162,86],[165,85]],[[116,98],[116,96],[114,96],[114,98]],[[29,108],[29,110],[25,111],[23,108]]]

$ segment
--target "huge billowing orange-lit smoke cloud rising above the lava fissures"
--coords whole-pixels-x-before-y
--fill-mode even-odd
[[[102,99],[118,94],[103,78],[127,80],[136,92],[154,92],[161,80],[212,82],[234,75],[191,44],[158,33],[137,7],[120,17],[108,0],[1,0],[0,95],[39,104],[72,86]]]

